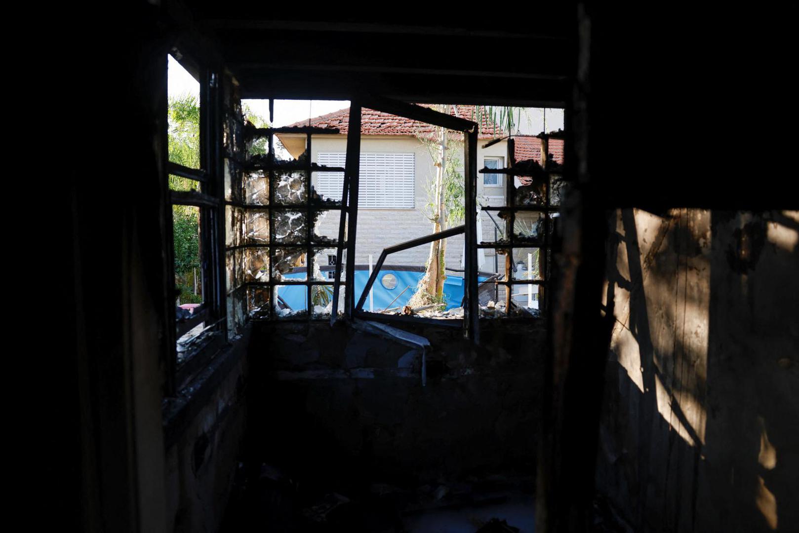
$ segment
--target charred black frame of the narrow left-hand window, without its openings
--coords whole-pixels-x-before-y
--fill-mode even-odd
[[[191,312],[177,307],[179,289],[169,295],[169,316],[174,327],[168,328],[171,352],[168,360],[167,393],[173,395],[199,370],[205,368],[213,356],[225,344],[225,308],[222,283],[225,263],[222,255],[221,235],[224,229],[221,218],[221,159],[218,102],[218,74],[208,66],[187,58],[178,50],[170,54],[189,74],[200,82],[200,168],[193,169],[169,161],[169,150],[165,149],[164,165],[167,227],[168,280],[173,284],[175,276],[175,249],[173,234],[173,206],[183,205],[197,208],[199,214],[199,255],[201,272],[202,303]],[[166,73],[165,73],[166,75]],[[166,95],[165,95],[166,97]],[[167,137],[167,132],[164,132]],[[168,145],[168,139],[164,139]],[[185,177],[196,181],[199,190],[173,190],[169,176]],[[172,285],[174,286],[174,285]]]

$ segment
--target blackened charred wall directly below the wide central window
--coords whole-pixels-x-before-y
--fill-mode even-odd
[[[459,328],[406,326],[421,352],[337,324],[259,324],[253,331],[252,428],[259,459],[308,479],[428,483],[531,476],[545,328],[495,321],[484,347]]]

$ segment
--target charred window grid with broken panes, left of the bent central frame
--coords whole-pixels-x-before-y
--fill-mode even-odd
[[[247,320],[312,320],[330,316],[335,305],[329,252],[338,238],[316,235],[315,222],[322,213],[342,209],[342,201],[320,197],[312,187],[312,173],[344,172],[340,167],[311,161],[311,141],[316,134],[335,134],[338,129],[312,127],[256,128],[245,124],[240,101],[233,97],[226,109],[225,217],[228,234],[225,255],[229,272],[229,322],[238,331]],[[272,123],[274,100],[269,101]],[[304,152],[296,160],[281,160],[276,134],[305,137]],[[237,145],[237,136],[242,142]],[[266,154],[252,155],[248,147],[266,139]],[[317,268],[318,267],[318,268]],[[338,266],[336,266],[338,268]],[[318,273],[317,273],[318,272]],[[284,289],[284,298],[278,293]],[[301,306],[288,301],[288,292]],[[333,313],[335,314],[335,313]]]

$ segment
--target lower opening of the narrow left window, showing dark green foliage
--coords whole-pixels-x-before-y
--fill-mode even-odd
[[[200,208],[193,205],[173,205],[172,221],[175,287],[179,291],[177,305],[200,304],[203,300]]]

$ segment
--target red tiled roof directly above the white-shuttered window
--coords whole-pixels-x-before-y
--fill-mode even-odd
[[[474,120],[474,105],[451,105],[450,114],[456,117]],[[483,114],[483,127],[480,129],[479,138],[491,139],[502,137],[503,131],[491,124],[487,116]],[[311,119],[312,126],[316,128],[338,128],[340,133],[348,132],[349,108],[333,111],[320,117]],[[308,121],[300,121],[289,125],[305,126]],[[496,132],[496,133],[495,133]],[[425,122],[411,120],[410,118],[397,117],[389,113],[375,111],[364,108],[360,117],[360,133],[364,135],[432,135],[435,133],[435,126]]]

